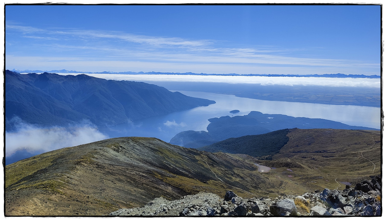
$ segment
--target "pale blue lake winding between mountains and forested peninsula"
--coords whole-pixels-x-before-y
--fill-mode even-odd
[[[251,111],[259,111],[264,114],[285,114],[293,117],[322,118],[376,129],[381,127],[381,109],[378,107],[266,101],[211,92],[179,92],[187,96],[214,100],[216,104],[141,119],[110,128],[99,128],[99,131],[110,138],[142,136],[155,137],[169,142],[181,131],[207,131],[210,118],[246,115]],[[240,112],[230,113],[235,109]]]

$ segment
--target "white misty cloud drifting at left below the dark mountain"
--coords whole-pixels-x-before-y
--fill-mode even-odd
[[[15,131],[5,132],[6,157],[12,156],[18,150],[25,150],[29,153],[47,152],[108,138],[92,124],[66,128],[41,128],[20,122],[15,127]]]

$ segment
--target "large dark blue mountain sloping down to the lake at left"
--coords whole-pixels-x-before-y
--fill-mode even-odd
[[[110,126],[213,103],[144,82],[5,71],[6,130],[15,116],[42,126]]]

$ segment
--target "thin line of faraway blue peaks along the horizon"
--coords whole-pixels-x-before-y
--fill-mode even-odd
[[[24,71],[13,69],[13,72],[18,73],[43,73],[43,72],[50,72],[50,73],[88,73],[88,74],[157,74],[157,75],[198,75],[198,76],[286,76],[286,77],[330,77],[330,78],[373,78],[373,79],[380,79],[381,76],[377,75],[354,75],[354,74],[307,74],[307,75],[299,75],[299,74],[207,74],[207,73],[193,73],[193,72],[185,72],[185,73],[179,73],[179,72],[112,72],[112,71],[103,71],[103,72],[78,72],[78,71],[68,71],[65,69],[62,70],[51,70],[51,71],[41,71],[41,70],[29,70],[26,69]]]

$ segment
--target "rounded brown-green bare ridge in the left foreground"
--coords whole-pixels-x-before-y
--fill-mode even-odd
[[[274,193],[280,183],[263,178],[244,160],[155,138],[113,138],[58,149],[5,166],[5,214],[108,215],[160,196]]]

